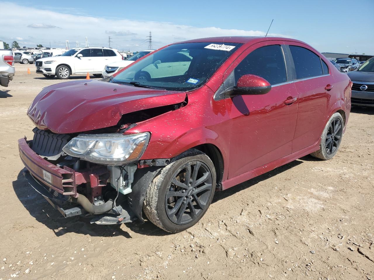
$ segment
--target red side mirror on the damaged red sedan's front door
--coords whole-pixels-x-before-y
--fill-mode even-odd
[[[256,75],[243,75],[233,88],[233,94],[266,94],[272,89],[272,85],[264,78]]]

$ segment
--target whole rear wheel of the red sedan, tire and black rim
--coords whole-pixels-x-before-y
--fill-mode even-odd
[[[338,152],[343,138],[344,121],[340,113],[334,113],[327,122],[321,135],[319,150],[310,155],[319,159],[332,159]]]

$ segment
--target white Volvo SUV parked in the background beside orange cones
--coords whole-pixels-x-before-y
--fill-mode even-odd
[[[117,50],[104,47],[85,47],[68,50],[61,56],[44,57],[35,63],[36,72],[46,78],[57,76],[68,79],[70,75],[93,74],[101,77],[102,69],[111,62],[122,60]]]

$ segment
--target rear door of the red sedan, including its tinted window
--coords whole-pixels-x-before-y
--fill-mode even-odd
[[[329,74],[327,61],[308,46],[292,43],[286,46],[294,71],[298,91],[298,116],[292,152],[312,146],[321,138],[332,100],[334,80]]]

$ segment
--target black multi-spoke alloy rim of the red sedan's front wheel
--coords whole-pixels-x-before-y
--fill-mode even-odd
[[[168,218],[178,225],[195,220],[209,205],[212,190],[209,168],[200,161],[187,162],[173,175],[166,191]]]

